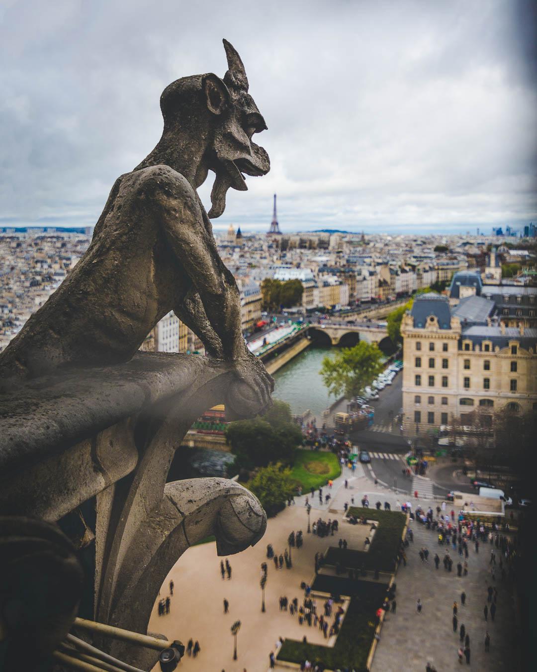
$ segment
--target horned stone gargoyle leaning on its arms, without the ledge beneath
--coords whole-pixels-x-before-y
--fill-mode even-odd
[[[162,137],[117,178],[83,258],[0,353],[4,389],[60,368],[128,362],[173,310],[212,358],[233,362],[230,417],[270,403],[273,380],[244,343],[238,288],[209,221],[224,212],[230,187],[247,190],[243,173],[270,169],[252,142],[264,118],[240,56],[227,40],[224,47],[224,79],[194,75],[164,89]],[[196,189],[209,170],[216,177],[207,216]]]

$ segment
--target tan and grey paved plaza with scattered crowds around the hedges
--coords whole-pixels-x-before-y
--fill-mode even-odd
[[[344,487],[348,478],[348,489]],[[328,492],[328,489],[324,489]],[[392,509],[396,502],[403,501],[386,488],[374,486],[364,476],[361,466],[354,474],[344,468],[344,474],[334,481],[328,505],[319,505],[318,497],[311,501],[311,522],[318,517],[324,520],[336,517],[340,523],[335,536],[318,538],[307,534],[307,514],[305,495],[296,499],[296,505],[288,507],[277,517],[270,519],[264,538],[254,548],[230,556],[232,579],[222,580],[219,569],[220,558],[216,555],[215,544],[202,544],[189,549],[170,571],[164,582],[160,597],[168,595],[170,579],[175,583],[170,614],[158,616],[154,607],[150,630],[162,632],[171,639],[181,639],[185,644],[192,638],[199,640],[201,653],[196,659],[185,656],[181,663],[185,671],[203,672],[266,672],[269,669],[269,653],[277,652],[278,638],[289,637],[301,640],[307,636],[312,643],[326,644],[318,628],[299,626],[297,616],[279,610],[279,597],[286,595],[289,600],[303,597],[301,581],[310,583],[313,579],[313,557],[315,552],[326,551],[328,546],[336,546],[339,538],[346,538],[349,548],[363,548],[363,529],[350,526],[343,520],[344,503],[350,505],[354,496],[356,505],[364,494],[369,495],[371,505],[375,501],[388,501]],[[422,507],[437,502],[419,500]],[[414,502],[416,503],[416,502]],[[480,671],[496,672],[509,669],[509,645],[511,628],[514,624],[514,610],[507,587],[497,578],[497,613],[495,622],[485,623],[483,606],[487,601],[490,547],[481,544],[479,554],[473,546],[469,557],[469,574],[457,577],[454,571],[434,569],[432,558],[439,548],[436,535],[420,523],[412,522],[414,542],[407,548],[407,566],[401,565],[397,582],[397,613],[388,614],[381,630],[381,641],[377,646],[372,672],[422,671],[429,661],[438,672],[448,672],[460,668],[457,659],[458,634],[452,629],[452,604],[459,603],[459,625],[465,623],[471,641],[471,667]],[[302,530],[304,544],[299,550],[292,549],[292,569],[276,570],[273,560],[266,558],[266,544],[272,544],[275,553],[287,548],[287,537],[291,530]],[[418,552],[422,546],[430,550],[429,563],[422,563]],[[440,557],[445,547],[442,546]],[[497,557],[499,550],[495,549]],[[456,553],[451,553],[457,557]],[[455,560],[454,564],[458,559]],[[267,562],[269,575],[266,583],[266,613],[261,612],[260,564]],[[499,574],[499,573],[497,573]],[[465,607],[460,606],[460,593],[467,593]],[[423,614],[416,613],[416,599],[422,600]],[[228,599],[230,611],[224,614],[223,601]],[[320,600],[318,600],[320,602]],[[230,627],[240,620],[242,627],[238,634],[238,660],[233,661],[233,639]],[[484,638],[488,628],[491,636],[491,653],[485,654]],[[402,663],[401,661],[405,661]],[[466,666],[466,663],[463,663]],[[277,669],[280,669],[277,666]],[[281,668],[283,669],[283,668]],[[289,668],[287,668],[289,669]],[[157,672],[158,667],[154,668]]]

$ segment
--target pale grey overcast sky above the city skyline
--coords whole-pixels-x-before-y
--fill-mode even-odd
[[[284,231],[537,220],[530,0],[2,0],[0,225],[94,224],[185,75],[242,56],[271,157],[224,215]],[[209,180],[201,187],[210,206]],[[208,209],[208,207],[207,207]]]

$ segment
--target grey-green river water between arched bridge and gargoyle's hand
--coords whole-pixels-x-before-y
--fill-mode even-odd
[[[336,401],[328,394],[319,374],[322,360],[330,350],[330,347],[310,345],[273,374],[274,398],[287,401],[295,415],[309,409],[317,417],[318,424],[322,421],[322,411]]]

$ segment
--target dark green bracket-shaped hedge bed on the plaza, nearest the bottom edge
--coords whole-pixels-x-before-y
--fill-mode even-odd
[[[279,650],[278,660],[300,664],[308,659],[314,664],[323,663],[331,670],[352,667],[357,672],[365,672],[377,623],[375,612],[383,603],[387,585],[318,576],[313,589],[352,596],[336,645],[330,648],[286,639]]]

